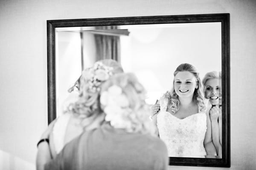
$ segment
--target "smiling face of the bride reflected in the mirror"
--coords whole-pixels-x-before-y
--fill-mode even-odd
[[[193,96],[195,89],[197,88],[197,80],[191,72],[178,72],[174,78],[174,90],[181,98]]]

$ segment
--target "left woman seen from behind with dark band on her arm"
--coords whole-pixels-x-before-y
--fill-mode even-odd
[[[79,81],[74,85],[78,88],[76,98],[65,109],[65,113],[49,125],[38,142],[38,170],[43,170],[48,160],[55,158],[65,144],[83,131],[97,128],[102,124],[105,115],[99,108],[101,85],[120,72],[123,72],[122,67],[111,59],[98,61],[93,67],[83,70]]]

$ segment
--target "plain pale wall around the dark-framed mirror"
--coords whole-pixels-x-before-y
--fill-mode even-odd
[[[209,13],[230,13],[230,169],[255,169],[254,0],[0,0],[0,150],[35,163],[47,127],[46,20]]]

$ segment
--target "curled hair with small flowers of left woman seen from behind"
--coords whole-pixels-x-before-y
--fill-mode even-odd
[[[123,72],[121,65],[112,59],[97,61],[93,67],[84,69],[75,83],[79,96],[75,102],[69,104],[65,112],[80,118],[81,125],[86,127],[102,114],[99,104],[102,83],[120,72]]]

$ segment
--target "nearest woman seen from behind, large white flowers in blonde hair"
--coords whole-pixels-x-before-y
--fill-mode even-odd
[[[167,149],[149,119],[145,89],[133,74],[120,73],[102,85],[105,121],[67,144],[46,170],[166,170]]]

